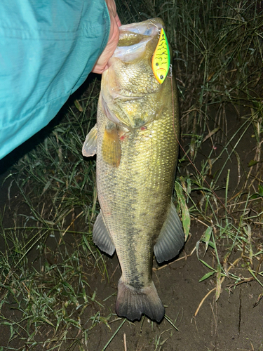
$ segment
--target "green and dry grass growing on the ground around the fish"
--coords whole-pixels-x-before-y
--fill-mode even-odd
[[[123,24],[159,16],[167,25],[185,150],[180,152],[175,190],[187,234],[191,234],[190,218],[191,223],[203,225],[196,253],[207,273],[199,279],[214,279],[208,293],[215,293],[216,300],[226,281],[229,289],[257,282],[262,288],[260,303],[260,1],[192,1],[189,6],[183,0],[117,0],[116,4]],[[6,180],[19,195],[1,214],[0,327],[6,331],[6,345],[0,350],[34,350],[38,345],[44,350],[90,350],[90,339],[95,340],[101,325],[109,335],[104,335],[107,341],[100,348],[110,350],[118,336],[122,340],[121,331],[130,328],[130,322],[117,318],[109,307],[116,289],[109,289],[102,300],[90,284],[94,276],[109,286],[112,282],[109,261],[92,243],[99,209],[95,161],[81,157],[83,140],[95,124],[99,91],[100,81],[90,81],[61,123],[11,168]],[[244,140],[253,145],[245,161]],[[245,268],[242,274],[236,272],[239,265]],[[203,303],[205,299],[195,316]],[[165,350],[178,326],[169,321],[161,331],[151,326],[156,336],[147,350]],[[146,321],[141,330],[147,330]],[[119,349],[124,350],[123,344]]]

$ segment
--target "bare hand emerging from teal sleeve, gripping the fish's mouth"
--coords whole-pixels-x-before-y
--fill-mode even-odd
[[[109,68],[108,61],[112,57],[118,41],[119,41],[119,27],[121,26],[121,21],[116,11],[116,4],[114,0],[105,0],[108,10],[109,18],[111,20],[111,29],[109,30],[109,40],[104,51],[97,59],[92,72],[102,74],[102,72]]]

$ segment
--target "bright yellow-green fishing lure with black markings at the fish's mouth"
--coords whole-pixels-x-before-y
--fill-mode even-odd
[[[160,37],[154,55],[151,60],[151,68],[154,72],[154,77],[163,83],[169,71],[170,66],[170,51],[166,33],[161,29]]]

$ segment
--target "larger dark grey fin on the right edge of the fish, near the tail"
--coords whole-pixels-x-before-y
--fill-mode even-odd
[[[171,202],[170,211],[154,246],[157,262],[171,260],[179,253],[182,246],[184,246],[184,231],[175,205]]]

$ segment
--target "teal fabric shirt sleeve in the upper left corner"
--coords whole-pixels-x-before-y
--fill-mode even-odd
[[[0,1],[0,159],[81,86],[109,29],[104,0]]]

